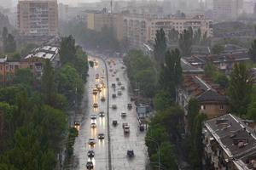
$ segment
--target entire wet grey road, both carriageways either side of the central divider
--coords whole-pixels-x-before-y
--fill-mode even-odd
[[[96,59],[96,58],[90,58]],[[74,144],[74,157],[77,161],[77,167],[74,169],[86,169],[86,162],[88,161],[87,151],[90,150],[90,145],[88,139],[95,138],[96,144],[94,148],[95,158],[92,160],[94,163],[94,169],[102,170],[108,168],[108,123],[107,116],[99,117],[99,111],[107,112],[108,102],[101,101],[101,97],[107,98],[107,90],[109,90],[109,122],[110,122],[110,151],[111,151],[111,167],[113,170],[143,170],[146,167],[147,162],[147,150],[144,144],[145,132],[140,132],[138,129],[136,108],[132,104],[131,111],[128,110],[127,104],[130,102],[130,94],[128,92],[128,78],[126,77],[125,69],[119,59],[107,59],[106,63],[108,65],[108,87],[103,88],[102,92],[97,95],[93,95],[93,88],[96,87],[96,74],[104,77],[104,83],[106,84],[106,72],[105,65],[101,59],[96,59],[98,65],[94,68],[90,68],[87,83],[88,90],[88,108],[84,111],[83,122],[81,122],[79,137],[76,139]],[[108,62],[109,61],[109,62]],[[110,63],[110,64],[108,64]],[[110,71],[112,70],[112,71]],[[115,74],[113,72],[116,72]],[[120,89],[121,86],[117,84],[116,78],[119,77],[119,82],[122,83],[125,89]],[[112,83],[116,84],[116,89],[111,88]],[[121,95],[118,95],[118,91],[121,91]],[[115,99],[112,98],[112,94],[116,94]],[[99,105],[98,109],[93,109],[93,104],[97,103]],[[112,105],[117,105],[117,109],[113,110]],[[121,112],[126,113],[126,117],[122,118]],[[96,114],[96,128],[90,128],[90,115]],[[112,121],[117,120],[118,126],[113,127]],[[127,122],[130,126],[129,135],[125,135],[122,127],[122,123]],[[98,133],[104,133],[105,139],[102,141],[97,139]],[[126,156],[127,150],[134,150],[135,156],[133,158],[128,158]]]

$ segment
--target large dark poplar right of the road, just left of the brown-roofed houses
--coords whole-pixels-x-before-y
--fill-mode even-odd
[[[160,86],[170,95],[174,101],[176,98],[177,85],[182,81],[182,67],[180,53],[176,48],[166,52],[166,65],[160,71]]]

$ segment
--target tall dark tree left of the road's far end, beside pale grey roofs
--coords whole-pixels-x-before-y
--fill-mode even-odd
[[[60,58],[62,65],[67,62],[75,63],[76,59],[76,48],[75,48],[75,40],[70,35],[69,37],[61,38],[61,48],[60,48]]]

